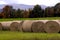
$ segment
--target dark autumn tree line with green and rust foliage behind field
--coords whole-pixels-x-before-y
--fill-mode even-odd
[[[33,9],[21,10],[13,9],[6,5],[0,12],[0,18],[40,18],[40,17],[60,17],[60,3],[55,6],[42,9],[40,5],[35,5]]]

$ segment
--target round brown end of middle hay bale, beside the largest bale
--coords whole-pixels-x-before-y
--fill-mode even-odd
[[[43,33],[44,32],[43,25],[44,25],[44,23],[42,21],[33,22],[31,29],[33,32]]]

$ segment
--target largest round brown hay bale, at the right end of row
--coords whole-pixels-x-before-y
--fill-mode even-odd
[[[44,29],[47,33],[58,33],[60,28],[58,20],[47,21],[44,25]]]

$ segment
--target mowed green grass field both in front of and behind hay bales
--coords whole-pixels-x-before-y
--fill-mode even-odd
[[[0,19],[0,22],[14,20],[60,20],[60,17],[2,18]],[[23,33],[17,31],[0,31],[0,40],[60,40],[60,33]]]

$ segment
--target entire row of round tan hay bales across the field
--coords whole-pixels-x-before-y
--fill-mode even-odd
[[[58,20],[25,20],[1,22],[0,30],[23,31],[23,32],[47,32],[58,33],[60,22]]]

